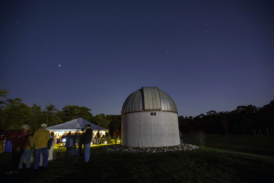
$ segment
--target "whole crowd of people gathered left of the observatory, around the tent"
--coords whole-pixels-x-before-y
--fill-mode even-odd
[[[31,134],[29,131],[30,126],[24,124],[22,128],[15,132],[11,138],[12,143],[12,170],[6,172],[5,174],[17,174],[20,169],[23,168],[23,160],[26,160],[26,168],[30,168],[31,155],[34,158],[34,170],[39,167],[48,167],[48,162],[53,160],[53,147],[56,143],[54,132],[46,130],[46,124],[42,124],[40,129]],[[83,156],[83,162],[87,163],[90,160],[90,145],[100,143],[112,143],[110,136],[102,135],[98,130],[95,137],[93,135],[93,130],[91,125],[87,124],[85,126],[86,131],[82,128],[82,133],[76,132],[73,134],[71,131],[66,134],[65,147],[66,153],[65,157],[71,158],[75,155]],[[115,131],[115,144],[117,142],[116,135],[118,135],[118,130]],[[120,133],[119,133],[120,135]],[[119,136],[118,135],[118,136]],[[78,150],[76,146],[78,144]],[[84,151],[83,151],[84,146]],[[77,163],[77,158],[74,158],[74,163]]]

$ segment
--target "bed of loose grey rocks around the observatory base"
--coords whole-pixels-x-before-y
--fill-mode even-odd
[[[194,149],[199,149],[200,147],[191,144],[180,144],[169,147],[125,147],[121,145],[114,145],[111,148],[104,148],[106,151],[116,151],[116,152],[174,152],[174,151],[192,151]]]

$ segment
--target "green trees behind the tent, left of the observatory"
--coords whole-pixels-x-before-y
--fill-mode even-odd
[[[0,90],[1,99],[7,94],[8,91]],[[109,129],[111,134],[116,129],[121,129],[121,115],[105,115],[100,113],[93,116],[90,111],[91,109],[87,107],[72,105],[65,106],[62,110],[58,110],[53,104],[48,104],[45,106],[45,109],[41,109],[41,106],[37,104],[27,106],[20,98],[7,99],[0,101],[0,129],[18,130],[23,124],[29,124],[30,131],[34,132],[38,130],[43,123],[49,127],[79,117],[100,127]]]

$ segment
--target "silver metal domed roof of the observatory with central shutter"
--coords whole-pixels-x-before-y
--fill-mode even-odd
[[[134,91],[125,100],[122,114],[137,111],[171,111],[178,113],[173,99],[157,87],[142,87]]]

